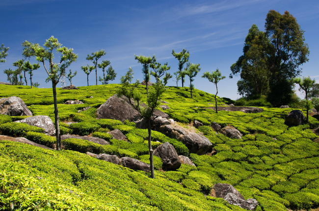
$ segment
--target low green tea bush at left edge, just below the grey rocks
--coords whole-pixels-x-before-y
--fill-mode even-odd
[[[21,137],[30,131],[41,133],[44,129],[19,122],[7,122],[0,125],[1,134],[6,136]]]

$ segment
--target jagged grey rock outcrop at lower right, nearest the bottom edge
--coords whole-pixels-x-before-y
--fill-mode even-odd
[[[254,211],[258,206],[255,199],[247,199],[239,193],[239,191],[229,184],[217,183],[213,186],[214,194],[217,198],[223,198],[231,205],[237,205],[240,208]]]

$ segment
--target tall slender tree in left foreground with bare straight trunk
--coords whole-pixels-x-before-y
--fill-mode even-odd
[[[35,56],[36,60],[43,63],[43,67],[48,73],[48,78],[46,82],[52,82],[53,90],[53,101],[54,101],[54,117],[55,117],[55,134],[56,134],[56,150],[61,149],[61,137],[60,137],[60,128],[59,128],[59,115],[57,110],[57,100],[56,100],[56,85],[60,80],[62,75],[65,75],[65,69],[68,68],[72,62],[77,61],[78,55],[73,52],[72,48],[62,47],[62,44],[58,42],[53,36],[50,37],[44,43],[44,47],[39,44],[33,44],[25,41],[22,44],[23,55],[27,57]],[[54,54],[53,51],[56,50],[56,53],[60,53],[59,63],[53,62]],[[49,62],[49,68],[47,69],[45,61]]]

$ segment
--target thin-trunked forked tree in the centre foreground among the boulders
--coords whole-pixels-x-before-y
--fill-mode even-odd
[[[133,106],[133,108],[139,113],[139,115],[144,118],[147,123],[147,130],[148,130],[148,147],[150,151],[150,170],[151,170],[151,177],[155,178],[154,176],[154,161],[153,161],[153,149],[152,149],[152,130],[151,130],[151,117],[156,108],[160,105],[160,98],[165,92],[165,87],[161,83],[156,83],[152,86],[150,90],[150,94],[147,96],[147,105],[141,106],[141,98],[142,94],[136,90],[139,81],[136,80],[135,83],[132,84],[133,80],[133,70],[130,68],[127,71],[126,75],[121,76],[121,88],[117,91],[117,97],[122,95],[126,96]]]

